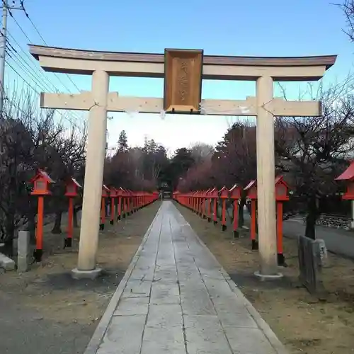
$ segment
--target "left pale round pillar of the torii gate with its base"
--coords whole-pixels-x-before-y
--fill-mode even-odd
[[[95,104],[89,113],[79,258],[77,268],[72,271],[74,278],[95,278],[101,271],[96,268],[96,253],[105,159],[108,86],[107,72],[93,72],[91,90]]]

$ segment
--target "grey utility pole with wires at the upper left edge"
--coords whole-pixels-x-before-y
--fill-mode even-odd
[[[2,0],[2,29],[0,35],[0,118],[3,115],[4,98],[5,98],[5,58],[6,58],[6,43],[7,43],[7,15],[11,10],[22,10],[25,11],[23,7],[23,1],[20,1],[21,7],[16,7],[15,1],[13,1],[13,6],[8,6],[8,0]]]

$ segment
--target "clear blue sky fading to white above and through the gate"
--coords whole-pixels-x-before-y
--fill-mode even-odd
[[[262,57],[338,55],[336,64],[326,72],[326,85],[342,81],[353,69],[354,43],[342,31],[345,18],[327,0],[25,0],[24,4],[42,38],[53,47],[152,53],[163,53],[165,48],[202,49],[205,55]],[[28,53],[28,42],[45,43],[22,11],[12,13],[28,38],[10,16],[9,44],[23,60],[30,61],[18,45]],[[44,91],[28,72],[21,71],[11,48],[9,54],[8,85],[22,77],[37,91]],[[69,76],[42,76],[37,69],[40,77],[52,83],[50,89],[55,86],[72,93],[91,89],[91,76],[70,75],[72,84]],[[120,96],[163,97],[163,84],[163,79],[113,77],[110,91],[118,91]],[[296,100],[307,85],[285,84],[287,97]],[[249,81],[202,84],[202,98],[244,99],[255,91],[255,83]],[[276,84],[275,96],[281,96]],[[141,145],[147,137],[164,144],[170,153],[195,142],[216,144],[236,120],[206,115],[166,115],[164,120],[142,113],[108,115],[113,118],[108,121],[108,147],[114,147],[120,131],[125,130],[130,145]]]

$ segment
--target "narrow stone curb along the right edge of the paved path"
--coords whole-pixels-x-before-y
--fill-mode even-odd
[[[176,207],[176,206],[174,205],[174,207]],[[183,217],[183,215],[181,214],[181,212],[179,212],[179,210],[177,208],[176,208],[176,210],[181,215],[181,217]],[[183,219],[185,220],[184,217],[183,217]],[[190,227],[190,230],[193,232],[193,234],[195,235],[195,238],[198,240],[200,245],[208,253],[210,253],[210,256],[212,256],[212,258],[215,260],[215,262],[220,265],[219,261],[217,261],[217,258],[214,256],[214,254],[212,254],[212,251],[210,251],[210,249],[207,248],[207,245],[199,238],[198,234],[195,233],[195,231],[190,226],[190,224],[187,222],[187,220],[185,220],[185,226],[187,226],[187,225],[188,225],[188,227]],[[267,322],[264,321],[262,316],[253,307],[251,302],[249,302],[249,300],[246,299],[244,294],[241,292],[241,290],[239,290],[239,288],[235,284],[234,280],[232,280],[232,278],[230,278],[230,276],[227,273],[227,271],[224,270],[224,268],[222,268],[221,265],[220,265],[219,271],[224,276],[225,280],[227,281],[227,284],[229,284],[230,289],[234,292],[236,297],[239,297],[239,299],[242,299],[242,301],[244,302],[244,306],[246,307],[247,311],[249,312],[249,314],[251,314],[251,316],[253,317],[254,321],[256,321],[256,324],[258,325],[259,329],[261,329],[263,331],[265,337],[268,339],[268,341],[271,344],[271,346],[273,346],[273,348],[275,350],[275,353],[277,353],[277,354],[288,354],[288,351],[286,350],[284,344],[282,344],[282,342],[280,342],[279,338],[277,336],[275,336],[275,333],[272,331],[272,329],[270,329],[270,326],[267,324]]]

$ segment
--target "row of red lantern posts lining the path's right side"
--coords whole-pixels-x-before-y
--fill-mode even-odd
[[[257,222],[257,181],[252,180],[244,188],[246,196],[251,200],[251,248],[253,250],[258,249],[258,241],[256,240],[256,222]],[[222,187],[218,190],[212,188],[209,190],[197,190],[189,193],[180,193],[176,191],[173,193],[173,199],[179,202],[181,205],[188,207],[193,212],[197,213],[203,219],[207,219],[208,222],[214,222],[216,225],[217,219],[217,205],[218,200],[221,200],[222,215],[221,226],[222,231],[227,229],[226,212],[227,212],[227,200],[232,200],[234,204],[233,215],[233,232],[234,236],[239,236],[239,200],[243,188],[235,184],[232,188]],[[278,264],[285,265],[285,257],[282,248],[282,207],[283,202],[289,200],[289,185],[284,181],[282,176],[275,178],[275,202],[277,205],[277,250],[278,250]]]

